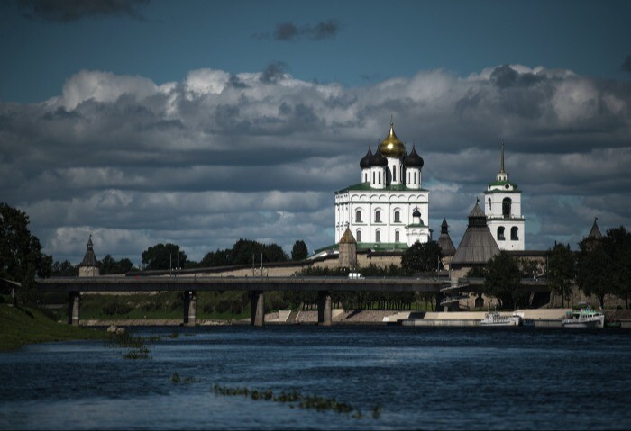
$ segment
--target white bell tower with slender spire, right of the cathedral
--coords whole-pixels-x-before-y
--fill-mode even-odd
[[[484,213],[500,250],[524,250],[526,219],[521,213],[521,190],[504,172],[504,142],[499,174],[484,192]]]

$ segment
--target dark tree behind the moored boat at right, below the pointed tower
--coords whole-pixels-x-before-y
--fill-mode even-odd
[[[584,238],[579,243],[576,284],[587,296],[595,295],[605,308],[605,295],[612,293],[609,256],[603,238]]]

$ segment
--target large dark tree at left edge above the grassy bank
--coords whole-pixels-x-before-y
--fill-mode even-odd
[[[40,240],[28,229],[25,212],[0,203],[0,277],[22,284],[18,300],[30,300],[35,276],[49,276],[52,257],[41,253]]]

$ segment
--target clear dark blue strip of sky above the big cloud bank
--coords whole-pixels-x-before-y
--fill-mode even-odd
[[[81,69],[162,84],[197,68],[236,74],[283,62],[301,80],[364,85],[419,70],[468,76],[517,63],[627,79],[621,65],[631,53],[628,1],[153,0],[134,4],[135,14],[74,21],[0,7],[0,100],[21,103],[59,94]],[[320,22],[336,28],[319,40],[301,32]],[[275,38],[282,23],[297,35]]]

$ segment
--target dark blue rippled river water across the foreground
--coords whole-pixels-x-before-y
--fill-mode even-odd
[[[137,328],[150,360],[77,341],[0,354],[0,428],[631,428],[620,329]],[[182,381],[170,379],[178,373]],[[215,394],[216,384],[345,401],[361,418]],[[380,407],[379,418],[371,410]]]

